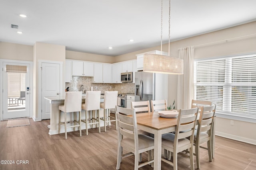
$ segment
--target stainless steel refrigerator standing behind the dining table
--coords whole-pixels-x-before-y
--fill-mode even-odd
[[[135,102],[168,100],[168,74],[135,72]]]

